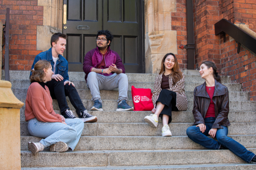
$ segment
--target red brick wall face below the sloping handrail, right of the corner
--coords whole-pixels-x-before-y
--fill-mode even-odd
[[[256,100],[256,54],[241,46],[237,53],[238,43],[226,37],[221,42],[221,75],[230,76],[233,83],[241,83],[242,90],[250,92],[250,100]]]

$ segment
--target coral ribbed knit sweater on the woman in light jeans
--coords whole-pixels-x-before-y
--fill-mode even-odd
[[[36,117],[41,122],[62,122],[60,115],[53,110],[52,97],[46,85],[45,89],[37,82],[28,87],[25,108],[26,121]]]

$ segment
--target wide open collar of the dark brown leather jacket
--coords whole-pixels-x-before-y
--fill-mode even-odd
[[[204,82],[204,84],[199,85],[195,95],[198,96],[198,97],[210,98],[208,93],[206,92],[206,87],[205,86],[206,86],[205,82]],[[215,80],[213,97],[214,96],[221,96],[221,95],[224,95],[224,94],[225,94],[225,90],[223,88],[223,85]]]

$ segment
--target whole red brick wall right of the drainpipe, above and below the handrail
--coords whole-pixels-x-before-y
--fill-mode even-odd
[[[232,82],[241,83],[242,90],[256,100],[256,54],[223,35],[215,36],[214,24],[225,18],[234,24],[247,24],[256,32],[256,0],[194,0],[195,63],[213,61],[221,75],[231,76]]]

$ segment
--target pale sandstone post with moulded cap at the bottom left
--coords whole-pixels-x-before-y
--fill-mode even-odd
[[[20,108],[9,81],[0,80],[0,169],[21,169]]]

